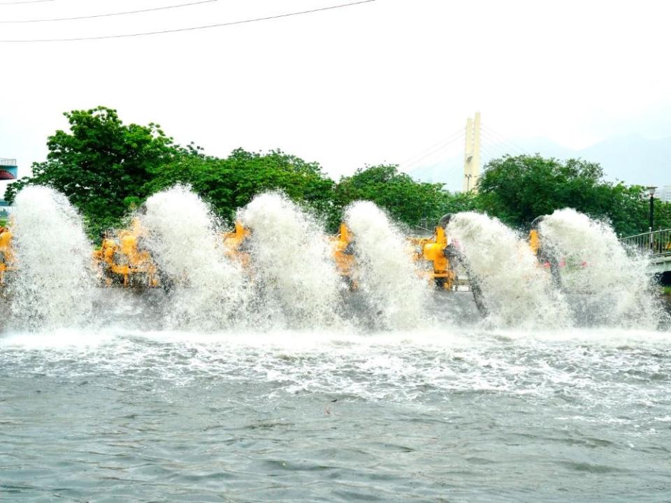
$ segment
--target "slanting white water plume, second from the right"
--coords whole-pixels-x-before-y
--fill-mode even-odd
[[[463,212],[449,221],[447,233],[466,257],[482,289],[490,321],[497,326],[563,327],[570,310],[551,284],[525,239],[498,219]]]

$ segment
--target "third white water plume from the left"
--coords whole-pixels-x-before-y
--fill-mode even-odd
[[[339,323],[345,286],[318,222],[277,193],[254,197],[238,217],[252,231],[253,278],[263,296],[258,308],[268,313],[273,326]]]

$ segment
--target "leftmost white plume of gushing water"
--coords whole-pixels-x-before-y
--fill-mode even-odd
[[[10,328],[82,326],[92,312],[94,274],[77,210],[53,189],[26,187],[16,196],[13,221]]]

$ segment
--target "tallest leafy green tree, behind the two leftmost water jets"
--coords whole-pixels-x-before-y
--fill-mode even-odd
[[[158,124],[125,125],[105,107],[64,114],[70,131],[48,138],[47,160],[34,163],[33,175],[10,184],[12,202],[28,184],[48,185],[65,194],[82,212],[89,232],[119,224],[129,207],[145,194],[145,184],[179,149]]]

